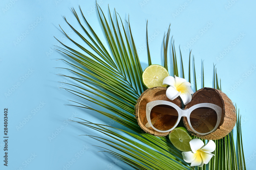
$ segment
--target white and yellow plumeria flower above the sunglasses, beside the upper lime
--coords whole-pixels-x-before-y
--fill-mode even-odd
[[[170,87],[166,90],[166,96],[170,100],[174,100],[178,96],[182,99],[183,103],[188,104],[194,92],[191,88],[191,84],[186,79],[173,76],[167,76],[163,80],[163,84],[169,85]]]

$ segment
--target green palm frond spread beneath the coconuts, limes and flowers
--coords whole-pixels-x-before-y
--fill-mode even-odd
[[[128,19],[128,21],[126,21],[129,28],[127,31],[119,14],[115,12],[115,16],[112,17],[110,9],[108,11],[110,17],[109,24],[98,4],[97,11],[109,48],[106,48],[103,45],[100,38],[84,17],[81,8],[80,12],[82,14],[83,21],[80,20],[77,12],[72,9],[74,16],[79,23],[79,27],[82,28],[83,32],[78,32],[78,28],[74,28],[65,17],[64,19],[70,28],[87,44],[88,47],[84,47],[77,43],[78,41],[73,40],[61,28],[67,38],[73,42],[76,48],[78,47],[80,49],[79,51],[82,52],[79,52],[78,50],[75,50],[75,47],[69,47],[58,40],[64,47],[58,47],[57,50],[68,58],[61,60],[65,61],[69,66],[75,69],[71,70],[68,68],[62,68],[72,72],[75,76],[59,75],[69,77],[72,80],[72,83],[63,82],[69,86],[63,89],[67,90],[74,96],[83,99],[80,101],[86,100],[90,103],[97,104],[99,107],[96,109],[87,106],[85,103],[77,101],[72,101],[74,104],[71,106],[101,113],[102,115],[121,124],[125,127],[124,129],[128,128],[129,130],[95,124],[80,118],[78,118],[78,121],[74,122],[108,136],[111,140],[109,138],[105,139],[99,136],[89,137],[112,147],[113,150],[108,150],[103,147],[101,148],[104,149],[104,152],[127,163],[134,169],[206,169],[208,166],[209,169],[246,169],[242,149],[239,113],[237,121],[238,155],[236,155],[236,146],[234,145],[234,139],[231,132],[225,138],[215,140],[217,146],[214,151],[215,156],[211,159],[209,165],[204,165],[201,168],[190,167],[185,161],[183,161],[181,151],[177,150],[172,143],[170,143],[169,139],[166,137],[156,137],[147,134],[140,128],[140,126],[138,126],[137,121],[134,118],[134,106],[136,105],[137,99],[145,89],[141,80],[143,71],[132,36],[132,25]],[[86,37],[84,35],[86,35]],[[167,34],[164,35],[163,41],[164,67],[166,69],[168,69],[167,49],[169,36],[170,26]],[[177,56],[173,37],[170,42],[173,71],[174,75],[178,76],[179,69],[177,66]],[[148,38],[147,54],[148,63],[151,65]],[[180,48],[179,53],[177,54],[180,54],[182,64],[182,71],[180,74],[184,77],[184,67]],[[195,58],[193,56],[194,69],[192,73],[190,73],[190,57],[191,51],[189,54],[189,82],[191,82],[191,74],[194,74],[194,84],[197,89]],[[203,63],[201,65],[204,86]],[[220,89],[215,66],[214,72],[214,87],[216,84],[216,88]],[[88,93],[96,97],[92,97],[91,95],[88,95]],[[120,134],[125,134],[125,136]],[[205,140],[203,141],[206,142]],[[143,143],[143,145],[141,143]]]

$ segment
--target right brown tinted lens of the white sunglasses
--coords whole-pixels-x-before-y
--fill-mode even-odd
[[[199,133],[209,133],[217,123],[217,113],[208,107],[200,107],[190,113],[191,126]]]

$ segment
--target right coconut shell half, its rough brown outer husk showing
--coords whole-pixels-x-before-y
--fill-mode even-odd
[[[232,101],[228,98],[228,96],[225,93],[214,88],[204,87],[202,89],[197,90],[192,95],[192,100],[185,106],[185,109],[190,108],[198,103],[212,103],[221,107],[222,113],[220,125],[214,132],[210,134],[198,135],[195,132],[193,132],[189,127],[187,118],[183,117],[184,125],[186,126],[190,133],[202,139],[217,140],[225,137],[226,135],[229,134],[229,132],[231,132],[237,120],[236,108],[234,107]],[[200,126],[198,128],[200,128]]]

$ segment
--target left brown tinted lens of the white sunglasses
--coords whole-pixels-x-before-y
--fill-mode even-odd
[[[172,106],[160,104],[154,106],[150,112],[152,125],[158,130],[171,129],[178,120],[178,112]]]

